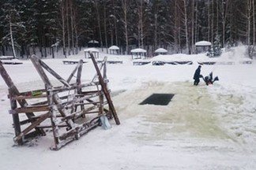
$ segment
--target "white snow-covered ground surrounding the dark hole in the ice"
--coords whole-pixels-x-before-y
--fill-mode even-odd
[[[104,57],[107,54],[100,54]],[[109,55],[108,55],[109,56]],[[176,57],[182,57],[176,54]],[[241,49],[225,53],[234,61]],[[75,58],[82,58],[83,53]],[[167,60],[173,59],[168,56]],[[197,61],[202,54],[190,57]],[[74,58],[74,57],[72,57]],[[130,56],[109,56],[109,86],[121,124],[97,127],[59,151],[51,151],[51,132],[25,146],[13,146],[7,87],[0,78],[1,169],[256,169],[256,65],[203,65],[220,81],[193,86],[194,65],[134,66]],[[75,65],[44,60],[67,78]],[[43,87],[31,61],[5,65],[20,91]],[[92,63],[83,80],[94,76]],[[54,79],[51,77],[51,79]],[[57,81],[55,81],[57,82]],[[154,93],[175,94],[168,105],[139,105]]]

